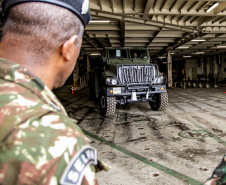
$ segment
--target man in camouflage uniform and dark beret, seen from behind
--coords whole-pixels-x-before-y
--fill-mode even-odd
[[[46,2],[2,1],[0,184],[94,185],[96,150],[50,90],[74,69],[89,1]]]

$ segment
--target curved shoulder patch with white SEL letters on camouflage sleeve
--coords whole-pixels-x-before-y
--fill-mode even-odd
[[[60,184],[81,184],[84,170],[90,164],[97,164],[97,151],[94,147],[86,146],[72,158],[60,179]]]

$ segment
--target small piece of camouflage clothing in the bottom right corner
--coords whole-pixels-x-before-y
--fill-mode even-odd
[[[225,185],[226,184],[226,155],[224,155],[219,166],[214,170],[210,179],[208,179],[205,185]]]

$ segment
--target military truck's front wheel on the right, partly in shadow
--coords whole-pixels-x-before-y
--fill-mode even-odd
[[[153,110],[164,110],[168,105],[167,92],[154,94],[154,101],[150,101],[149,104]]]

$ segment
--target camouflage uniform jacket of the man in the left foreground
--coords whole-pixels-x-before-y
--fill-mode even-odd
[[[63,178],[80,184],[83,174],[87,184],[95,184],[88,145],[76,121],[39,78],[0,58],[0,184],[56,185],[64,184]],[[72,169],[76,165],[79,173]]]

